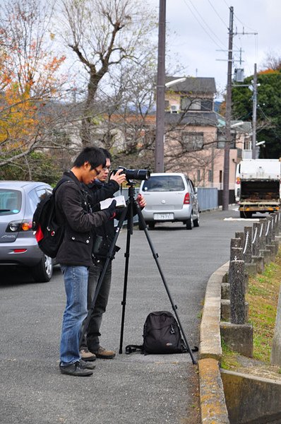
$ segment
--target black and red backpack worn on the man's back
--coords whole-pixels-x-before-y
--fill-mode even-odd
[[[52,193],[40,200],[32,218],[32,230],[35,231],[38,246],[51,258],[56,257],[64,238],[64,225],[59,225],[56,221],[54,194],[66,181],[67,179],[61,179]]]

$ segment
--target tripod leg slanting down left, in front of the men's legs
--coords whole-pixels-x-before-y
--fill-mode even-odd
[[[84,336],[85,332],[88,329],[88,325],[89,325],[90,319],[92,317],[92,311],[95,308],[95,302],[97,302],[97,296],[100,293],[100,288],[102,287],[102,282],[104,281],[104,276],[105,276],[105,273],[107,272],[107,268],[109,266],[109,262],[112,261],[112,259],[114,259],[114,247],[116,245],[117,238],[119,237],[120,229],[122,228],[122,225],[124,223],[124,219],[126,217],[127,210],[128,210],[128,208],[124,208],[124,211],[122,211],[121,218],[119,219],[119,223],[118,223],[118,225],[116,227],[116,230],[115,230],[114,239],[112,240],[112,244],[109,247],[109,252],[107,254],[107,259],[104,262],[104,267],[102,269],[102,273],[100,274],[100,278],[97,281],[97,288],[95,289],[95,294],[94,294],[94,297],[92,298],[91,307],[88,310],[88,315],[84,319],[84,322],[83,322],[83,324],[81,326],[80,338],[79,338],[79,346],[80,346],[80,344],[81,344],[81,342],[83,340],[83,336]]]

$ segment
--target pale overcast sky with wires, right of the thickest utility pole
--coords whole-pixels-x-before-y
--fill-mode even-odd
[[[147,1],[158,13],[160,0]],[[238,33],[233,39],[232,71],[242,67],[250,76],[255,63],[263,69],[268,53],[281,56],[280,0],[166,0],[166,4],[167,49],[183,66],[181,75],[214,77],[217,89],[225,88],[227,60],[217,59],[227,59],[230,6]]]

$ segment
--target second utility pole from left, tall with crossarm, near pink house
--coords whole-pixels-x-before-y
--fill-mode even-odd
[[[227,63],[227,97],[225,99],[225,156],[223,165],[222,210],[229,205],[229,151],[231,142],[230,121],[232,116],[232,42],[233,42],[233,6],[229,7],[229,37]]]

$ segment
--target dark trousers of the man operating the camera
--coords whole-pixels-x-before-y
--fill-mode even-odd
[[[88,310],[92,306],[92,299],[95,295],[97,282],[100,278],[104,268],[104,262],[100,261],[98,264],[90,266],[88,278]],[[92,311],[90,322],[86,330],[86,335],[83,337],[81,348],[88,347],[89,351],[95,352],[100,347],[100,326],[102,325],[102,314],[107,309],[107,302],[109,298],[110,285],[112,281],[112,262],[110,261],[107,271],[104,274],[104,279],[100,287],[100,292],[97,295],[94,310]],[[87,340],[86,340],[87,338]]]

